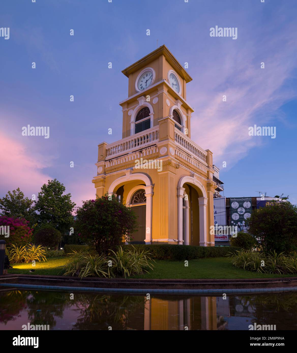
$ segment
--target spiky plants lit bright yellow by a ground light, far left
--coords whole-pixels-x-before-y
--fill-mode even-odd
[[[41,245],[29,244],[25,246],[11,245],[6,247],[5,254],[11,263],[46,261],[46,251]]]

